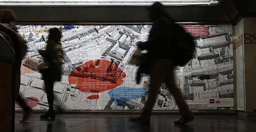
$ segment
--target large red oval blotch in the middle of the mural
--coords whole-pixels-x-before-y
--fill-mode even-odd
[[[69,74],[69,84],[76,84],[80,91],[100,93],[123,83],[124,73],[114,61],[92,60],[75,68]]]

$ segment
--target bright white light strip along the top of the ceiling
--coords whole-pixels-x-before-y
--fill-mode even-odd
[[[219,0],[158,0],[166,6],[188,6],[188,5],[207,5],[213,6],[219,4]],[[0,0],[0,6],[148,6],[151,5],[155,0],[76,0],[76,1],[67,1],[67,0],[34,0],[34,1],[25,1],[25,0],[9,0],[3,1]]]

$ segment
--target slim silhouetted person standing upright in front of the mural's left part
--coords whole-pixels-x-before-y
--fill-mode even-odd
[[[38,50],[43,56],[48,68],[41,70],[42,78],[45,82],[45,91],[48,99],[49,109],[40,118],[55,118],[53,109],[53,87],[55,81],[61,81],[63,50],[61,46],[61,31],[58,28],[49,29],[48,41],[45,50]]]

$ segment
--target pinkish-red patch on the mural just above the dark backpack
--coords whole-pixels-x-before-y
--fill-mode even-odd
[[[205,25],[182,25],[194,37],[209,36],[209,27]]]

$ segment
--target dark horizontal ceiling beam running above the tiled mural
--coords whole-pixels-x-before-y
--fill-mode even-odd
[[[250,2],[246,2],[250,1]],[[222,0],[217,6],[166,7],[177,22],[236,23],[254,15],[255,0]],[[148,23],[148,12],[140,6],[0,6],[12,9],[20,23]]]

